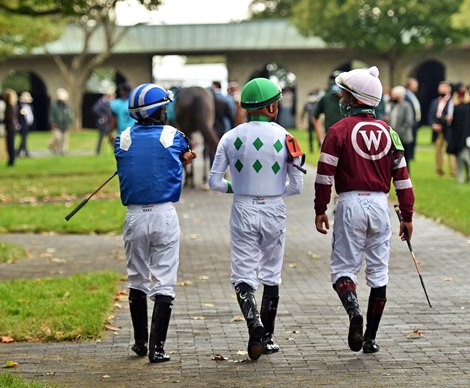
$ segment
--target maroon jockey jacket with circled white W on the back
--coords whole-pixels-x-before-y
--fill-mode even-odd
[[[395,186],[403,221],[413,217],[414,193],[405,158],[396,151],[387,123],[372,115],[345,117],[325,137],[315,180],[315,212],[324,214],[336,191],[379,191]]]

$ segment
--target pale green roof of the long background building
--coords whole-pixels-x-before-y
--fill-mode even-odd
[[[126,27],[121,27],[126,28]],[[285,19],[249,20],[226,24],[137,25],[116,45],[114,54],[130,53],[217,53],[239,50],[321,49],[326,44],[317,37],[305,37]],[[90,44],[90,53],[102,51],[104,31],[98,30]],[[53,54],[77,54],[83,46],[83,31],[69,25],[62,36],[49,44]],[[45,54],[44,47],[33,54]]]

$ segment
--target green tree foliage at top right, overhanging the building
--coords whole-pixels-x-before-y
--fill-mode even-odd
[[[440,49],[461,31],[451,16],[462,0],[299,0],[293,20],[306,35],[389,57]]]

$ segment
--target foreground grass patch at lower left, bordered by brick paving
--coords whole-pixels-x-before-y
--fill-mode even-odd
[[[0,283],[0,336],[15,341],[95,340],[111,314],[112,272]]]

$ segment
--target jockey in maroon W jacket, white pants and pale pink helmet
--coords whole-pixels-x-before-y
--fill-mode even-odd
[[[414,194],[398,134],[375,118],[382,98],[376,66],[339,74],[343,118],[325,137],[315,178],[315,226],[326,234],[326,214],[333,182],[339,194],[334,215],[331,282],[348,316],[349,348],[378,352],[376,334],[384,311],[392,228],[388,193],[391,181],[403,221],[399,235],[411,238]],[[358,273],[365,260],[370,287],[367,325],[356,293]]]

